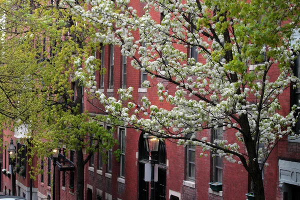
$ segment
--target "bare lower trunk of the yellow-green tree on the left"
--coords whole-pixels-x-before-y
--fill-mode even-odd
[[[76,149],[77,155],[77,187],[76,187],[76,200],[83,200],[84,195],[84,162],[82,149]]]

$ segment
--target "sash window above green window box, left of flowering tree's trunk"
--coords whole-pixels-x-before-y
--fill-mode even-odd
[[[217,129],[213,129],[212,130],[212,136],[213,136],[213,140],[215,139],[219,139],[219,140],[223,140],[223,129],[222,127],[219,127]],[[215,157],[212,160],[213,162],[213,181],[216,182],[222,182],[223,179],[223,159],[216,154]]]

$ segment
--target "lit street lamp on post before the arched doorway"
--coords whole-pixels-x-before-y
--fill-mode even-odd
[[[159,139],[153,135],[145,133],[143,135],[147,152],[150,152],[150,164],[151,164],[151,193],[150,200],[154,200],[154,165],[157,160],[152,159],[158,152]]]

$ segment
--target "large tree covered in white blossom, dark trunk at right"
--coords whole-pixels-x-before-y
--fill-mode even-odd
[[[294,135],[298,107],[292,106],[286,115],[278,110],[284,90],[299,86],[291,68],[299,46],[289,44],[299,23],[299,2],[142,2],[142,13],[129,0],[90,0],[89,10],[71,0],[61,2],[84,16],[89,25],[105,25],[107,30],[96,33],[97,39],[120,45],[122,55],[133,58],[133,67],[160,81],[157,97],[171,105],[166,109],[143,97],[142,106],[136,108],[139,102],[132,96],[132,87],[119,89],[119,99],[90,93],[104,105],[98,108],[107,113],[105,120],[117,118],[125,126],[174,138],[179,144],[198,145],[242,164],[252,178],[255,199],[264,199],[258,162],[266,166],[278,141]],[[161,21],[154,20],[152,16],[159,13]],[[201,61],[179,50],[182,46],[195,50]],[[92,72],[85,68],[77,74],[85,82],[92,80]],[[143,84],[153,87],[153,81]],[[168,92],[166,85],[175,86],[175,92]],[[211,142],[203,132],[218,127],[235,134],[236,140]],[[187,133],[195,134],[187,137]],[[240,151],[240,145],[246,152]]]

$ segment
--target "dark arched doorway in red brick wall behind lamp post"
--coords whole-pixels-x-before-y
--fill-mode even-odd
[[[149,162],[143,133],[138,141],[138,199],[149,199],[149,182],[144,181],[144,165]],[[166,150],[164,141],[159,141],[158,153],[152,158],[158,160],[158,181],[154,183],[154,199],[166,199]]]

